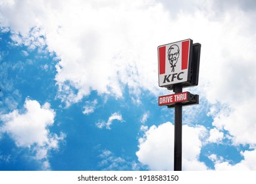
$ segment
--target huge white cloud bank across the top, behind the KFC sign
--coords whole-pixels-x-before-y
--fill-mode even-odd
[[[245,34],[253,26],[253,12],[240,11],[234,5],[215,20],[218,10],[212,7],[217,4],[225,5],[215,1],[179,1],[168,11],[165,7],[169,3],[165,1],[3,1],[1,19],[2,26],[31,37],[23,40],[16,36],[16,42],[35,42],[39,47],[45,41],[48,49],[61,58],[56,80],[59,97],[68,105],[80,101],[93,89],[99,94],[122,97],[124,84],[132,94],[140,95],[140,87],[159,93],[156,48],[188,35],[202,43],[199,91],[204,91],[211,102],[230,102],[242,96],[234,86],[247,89],[247,82],[255,81],[255,43],[251,41],[255,34]],[[24,20],[22,24],[20,18]],[[30,28],[34,31],[30,32]],[[234,52],[242,48],[243,54]],[[237,74],[247,80],[236,80],[233,85]],[[222,93],[223,89],[229,93]]]

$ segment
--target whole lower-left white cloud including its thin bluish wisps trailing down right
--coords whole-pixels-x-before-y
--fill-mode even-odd
[[[63,133],[58,136],[49,131],[49,127],[53,126],[54,118],[55,112],[50,108],[49,103],[41,106],[38,101],[26,99],[22,112],[14,110],[9,114],[1,115],[3,121],[1,132],[8,133],[17,147],[28,148],[35,152],[36,160],[48,162],[49,150],[58,149],[59,141],[64,139]],[[49,167],[43,169],[47,170]]]

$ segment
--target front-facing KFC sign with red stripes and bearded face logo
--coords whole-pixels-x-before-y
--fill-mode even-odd
[[[178,41],[158,48],[159,86],[188,85],[192,77],[192,39]]]

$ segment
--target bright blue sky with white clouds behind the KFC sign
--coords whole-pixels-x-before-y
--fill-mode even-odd
[[[1,0],[0,170],[173,170],[157,47],[201,43],[182,170],[256,170],[256,1]]]

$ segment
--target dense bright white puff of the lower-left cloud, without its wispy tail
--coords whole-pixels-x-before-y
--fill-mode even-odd
[[[25,114],[14,110],[1,116],[1,120],[5,122],[3,131],[13,137],[18,147],[30,147],[34,143],[43,146],[47,143],[48,130],[45,127],[53,125],[55,112],[46,105],[41,107],[37,101],[26,100]]]

